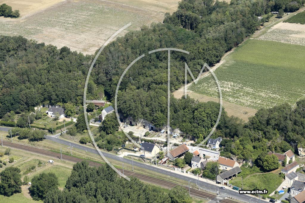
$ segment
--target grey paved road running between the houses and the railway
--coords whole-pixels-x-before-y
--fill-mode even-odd
[[[91,152],[91,153],[94,153],[94,154],[99,154],[99,152],[96,149],[92,149],[92,148],[89,148],[89,147],[86,147],[86,146],[83,146],[83,145],[79,145],[79,144],[76,144],[74,142],[69,142],[69,141],[66,141],[66,140],[62,140],[62,139],[54,138],[54,137],[50,137],[50,136],[47,136],[46,139],[51,140],[53,142],[63,144],[63,145],[70,146],[70,144],[71,144],[71,146],[73,146],[73,148],[81,149],[81,150]],[[122,163],[127,163],[127,164],[131,165],[131,160],[130,159],[125,159],[125,158],[116,156],[116,155],[111,154],[111,153],[106,153],[106,152],[103,152],[103,154],[106,158],[114,159],[114,160],[120,161]],[[192,184],[198,184],[198,179],[196,177],[194,177],[194,178],[188,177],[188,176],[185,176],[183,174],[179,174],[180,172],[168,171],[168,170],[162,169],[160,167],[156,167],[156,166],[153,166],[153,165],[149,165],[149,164],[145,164],[145,163],[141,163],[141,162],[137,162],[137,161],[134,161],[133,164],[134,164],[134,166],[145,168],[145,169],[157,172],[157,173],[162,173],[162,174],[165,174],[165,175],[168,175],[168,176],[171,176],[171,177],[179,178],[181,180],[185,180],[185,181],[191,180]],[[206,190],[206,191],[210,191],[210,192],[214,192],[214,193],[219,191],[221,196],[224,195],[224,197],[226,195],[231,195],[233,198],[238,199],[240,201],[244,201],[244,202],[267,203],[267,201],[263,201],[263,200],[260,201],[258,198],[252,198],[252,196],[239,194],[239,192],[233,191],[231,189],[221,190],[221,189],[219,189],[220,185],[214,185],[214,184],[211,184],[210,182],[207,182],[207,181],[204,181],[204,180],[199,180],[199,185],[200,185],[202,190]]]

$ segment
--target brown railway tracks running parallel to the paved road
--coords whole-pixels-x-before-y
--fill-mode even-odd
[[[34,148],[34,147],[26,146],[26,145],[20,145],[20,144],[16,144],[16,143],[12,143],[12,142],[6,142],[6,141],[3,141],[3,145],[8,146],[8,147],[13,147],[16,149],[26,150],[29,152],[39,153],[39,154],[46,155],[46,156],[52,156],[52,157],[56,157],[56,158],[60,159],[60,153],[57,153],[57,152],[51,152],[51,151],[44,150],[44,149],[38,149],[38,148]],[[65,154],[63,154],[62,157],[63,157],[63,160],[66,160],[66,161],[71,161],[71,162],[75,162],[75,163],[81,162],[81,161],[87,161],[89,163],[89,166],[94,166],[94,167],[102,166],[101,163],[96,163],[93,161],[80,159],[80,158],[68,156]],[[119,170],[121,170],[121,169],[119,169]],[[164,180],[156,179],[153,177],[145,176],[145,175],[134,173],[134,172],[127,171],[127,170],[124,170],[124,175],[137,177],[142,181],[156,184],[156,185],[159,185],[161,187],[166,187],[166,188],[173,188],[173,187],[179,185],[179,184],[170,183],[170,182],[167,182]],[[183,186],[183,187],[188,189],[187,186]],[[202,190],[197,190],[197,189],[192,189],[192,188],[190,189],[190,193],[192,196],[196,196],[199,198],[209,198],[209,199],[216,198],[215,194],[211,194],[211,193],[208,193],[208,192],[205,192]],[[223,199],[223,198],[219,198],[219,199],[221,199],[221,202],[223,202],[223,203],[236,203],[237,202],[237,201],[233,201],[233,200],[229,200],[229,199]]]

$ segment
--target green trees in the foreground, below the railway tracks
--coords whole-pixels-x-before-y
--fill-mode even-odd
[[[21,192],[20,169],[7,167],[1,173],[0,194],[11,196]],[[31,180],[30,195],[44,203],[191,203],[188,191],[177,186],[169,192],[161,187],[144,184],[137,178],[131,181],[118,178],[110,166],[90,167],[88,162],[76,163],[63,191],[58,189],[54,173],[40,173]]]

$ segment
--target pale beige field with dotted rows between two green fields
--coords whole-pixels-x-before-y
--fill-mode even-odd
[[[278,23],[258,39],[305,46],[305,25]]]

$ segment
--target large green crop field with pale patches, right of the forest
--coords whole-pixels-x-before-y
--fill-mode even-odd
[[[247,40],[216,69],[223,99],[259,109],[305,96],[305,46],[264,40]],[[211,75],[190,90],[218,98]]]

